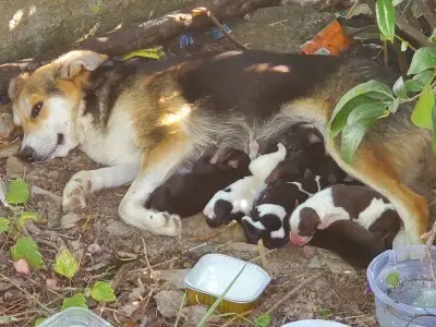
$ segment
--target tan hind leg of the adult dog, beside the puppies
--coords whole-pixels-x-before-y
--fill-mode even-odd
[[[374,149],[370,144],[362,144],[349,165],[331,144],[326,147],[340,168],[392,203],[404,225],[408,244],[403,245],[422,244],[421,235],[426,232],[428,220],[427,201],[400,180],[389,155]]]

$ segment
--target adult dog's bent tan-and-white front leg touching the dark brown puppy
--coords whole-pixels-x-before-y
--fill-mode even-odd
[[[181,233],[178,215],[147,209],[145,203],[153,191],[167,180],[192,150],[191,138],[178,131],[144,154],[140,172],[118,209],[124,222],[154,234],[174,237]]]

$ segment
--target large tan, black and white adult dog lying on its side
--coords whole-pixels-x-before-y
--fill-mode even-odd
[[[306,121],[323,133],[327,152],[346,172],[396,206],[413,244],[427,229],[427,201],[416,190],[433,178],[431,132],[415,128],[411,107],[401,105],[367,133],[352,165],[327,133],[348,89],[368,80],[392,85],[396,77],[355,58],[247,50],[122,62],[78,50],[12,80],[9,94],[14,122],[24,130],[22,158],[50,160],[78,147],[107,166],[71,178],[65,210],[84,207],[87,193],[133,182],[120,203],[121,218],[175,235],[179,217],[144,204],[185,159],[211,143],[247,152],[251,141]]]

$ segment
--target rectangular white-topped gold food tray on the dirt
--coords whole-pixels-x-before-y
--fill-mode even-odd
[[[218,310],[223,313],[242,313],[255,307],[271,278],[259,266],[223,254],[204,255],[186,275],[184,284],[187,289],[187,303],[213,304],[245,264]]]

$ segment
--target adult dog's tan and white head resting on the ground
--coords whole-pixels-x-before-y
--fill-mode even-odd
[[[83,110],[82,89],[89,72],[107,59],[93,51],[71,51],[32,74],[11,80],[13,120],[24,131],[22,159],[63,157],[78,145],[74,121]]]

